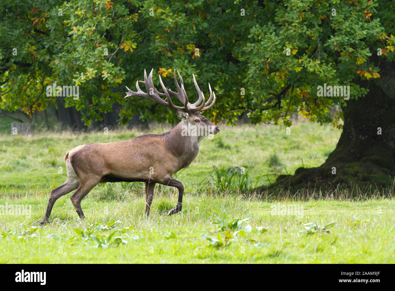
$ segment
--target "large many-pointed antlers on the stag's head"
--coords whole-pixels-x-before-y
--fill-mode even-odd
[[[177,77],[176,77],[175,71],[174,71],[174,82],[175,82],[175,86],[177,87],[177,92],[173,92],[170,89],[167,89],[162,82],[162,78],[159,75],[160,86],[162,86],[162,89],[165,93],[160,93],[154,87],[154,84],[152,84],[152,72],[153,71],[154,71],[154,69],[151,70],[151,72],[147,78],[147,71],[144,69],[144,81],[137,81],[136,82],[137,92],[130,90],[126,86],[126,89],[128,89],[128,92],[126,92],[125,98],[129,97],[129,96],[145,97],[145,98],[148,98],[148,99],[150,99],[160,105],[163,105],[167,108],[175,109],[175,110],[179,109],[179,110],[182,110],[186,113],[205,111],[205,110],[208,110],[213,107],[213,105],[215,103],[215,93],[213,93],[213,91],[211,90],[210,83],[209,83],[210,97],[209,97],[209,100],[207,100],[207,102],[206,102],[203,92],[199,89],[198,83],[196,82],[195,75],[192,75],[194,77],[194,84],[195,84],[196,91],[198,91],[199,98],[198,98],[198,101],[191,104],[188,102],[188,96],[186,95],[186,92],[185,92],[184,82],[183,82],[180,72],[178,70],[177,70],[177,73],[180,78],[181,87],[178,84]],[[144,91],[142,91],[140,89],[139,82],[141,82],[145,85],[145,88],[147,89],[147,93],[145,93]],[[165,97],[165,96],[166,96],[166,99],[163,100],[162,97]],[[184,105],[184,107],[174,105],[173,102],[171,101],[170,96],[176,97],[179,101],[181,101],[181,103]],[[166,100],[167,100],[167,102],[166,102]],[[210,104],[210,102],[211,102],[211,104]]]

